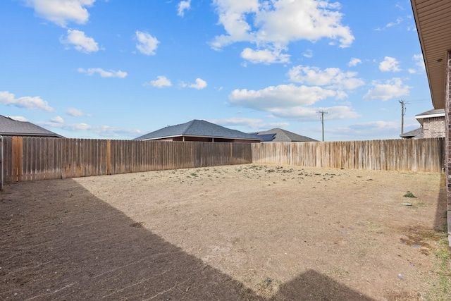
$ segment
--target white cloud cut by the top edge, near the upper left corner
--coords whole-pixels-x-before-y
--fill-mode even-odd
[[[89,19],[86,7],[96,0],[23,0],[35,9],[38,16],[56,25],[66,27],[68,22],[85,24]]]

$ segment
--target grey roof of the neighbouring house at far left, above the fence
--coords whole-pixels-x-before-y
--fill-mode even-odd
[[[63,138],[54,132],[41,128],[27,121],[16,121],[0,115],[0,135],[2,136],[32,136]]]

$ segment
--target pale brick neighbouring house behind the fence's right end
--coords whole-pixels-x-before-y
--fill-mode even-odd
[[[400,135],[406,139],[442,138],[445,137],[445,110],[432,109],[415,115],[421,128]]]

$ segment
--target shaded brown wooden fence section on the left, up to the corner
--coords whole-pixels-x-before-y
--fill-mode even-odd
[[[249,143],[4,137],[5,183],[251,162]]]

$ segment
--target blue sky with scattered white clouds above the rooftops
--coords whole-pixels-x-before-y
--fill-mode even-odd
[[[409,0],[4,0],[0,114],[132,139],[203,119],[397,139],[433,109]]]

